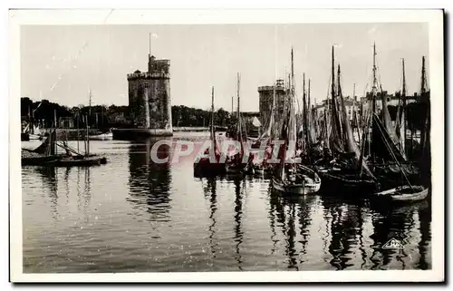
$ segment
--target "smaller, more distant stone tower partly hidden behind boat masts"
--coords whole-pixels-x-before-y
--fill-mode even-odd
[[[259,112],[261,124],[265,125],[269,119],[272,110],[272,103],[275,91],[275,114],[282,116],[284,114],[284,104],[288,100],[289,90],[284,86],[283,80],[277,80],[273,86],[258,87],[259,93]]]

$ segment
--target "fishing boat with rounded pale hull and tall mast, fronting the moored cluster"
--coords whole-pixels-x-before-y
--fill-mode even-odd
[[[288,114],[284,119],[281,136],[284,138],[284,147],[280,147],[280,168],[272,179],[274,189],[295,195],[312,194],[321,188],[321,179],[318,174],[299,163],[295,144],[297,141],[297,124],[295,120],[294,106],[294,53],[291,50],[291,91],[288,105],[285,106]]]

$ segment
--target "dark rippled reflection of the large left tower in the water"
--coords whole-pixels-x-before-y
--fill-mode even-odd
[[[151,154],[159,159],[170,158],[169,145],[163,144],[153,149],[157,139],[149,139],[130,144],[129,150],[129,188],[134,209],[144,210],[149,221],[169,221],[171,173],[169,163],[155,163]],[[151,149],[153,150],[151,152]]]

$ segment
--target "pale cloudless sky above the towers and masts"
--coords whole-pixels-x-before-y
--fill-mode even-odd
[[[284,79],[291,69],[301,99],[303,73],[312,103],[329,89],[331,49],[342,71],[343,95],[370,90],[372,45],[382,89],[401,88],[405,59],[408,92],[419,91],[421,57],[427,56],[428,24],[162,24],[24,25],[21,27],[21,96],[66,106],[128,105],[127,74],[147,71],[151,53],[170,60],[172,105],[231,111],[240,73],[241,111],[259,109],[257,87]],[[335,69],[336,70],[336,69]],[[429,80],[429,79],[428,79]],[[306,81],[308,82],[308,81]]]

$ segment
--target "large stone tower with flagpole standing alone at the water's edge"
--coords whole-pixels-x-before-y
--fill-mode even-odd
[[[133,129],[113,132],[118,139],[139,136],[171,136],[170,73],[169,60],[148,56],[148,72],[129,73],[128,120]]]

